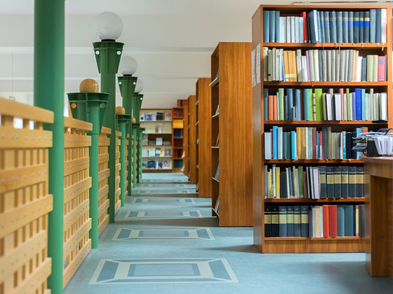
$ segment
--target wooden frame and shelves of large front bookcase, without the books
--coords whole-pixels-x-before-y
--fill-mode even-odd
[[[356,127],[368,127],[368,130],[378,130],[381,127],[393,125],[393,100],[392,100],[392,8],[390,6],[340,6],[340,10],[364,11],[371,8],[387,9],[387,43],[264,43],[263,42],[263,10],[279,10],[282,15],[298,16],[303,11],[337,10],[334,6],[274,6],[262,5],[256,10],[252,18],[252,48],[256,49],[260,44],[263,47],[284,48],[286,50],[302,51],[307,49],[339,48],[356,49],[374,55],[387,55],[387,82],[267,82],[263,80],[263,59],[260,68],[256,71],[261,73],[261,82],[253,87],[253,216],[254,216],[254,244],[262,253],[321,253],[321,252],[364,252],[366,250],[367,237],[265,237],[265,205],[280,203],[298,205],[322,205],[322,204],[364,204],[364,198],[341,198],[341,199],[265,199],[264,197],[264,165],[363,165],[362,160],[264,160],[264,132],[273,125],[283,126],[286,130],[294,130],[295,127],[316,126],[331,127],[332,131],[354,130]],[[262,53],[261,53],[262,54]],[[263,57],[262,57],[263,58]],[[387,122],[372,121],[273,121],[263,120],[263,91],[279,87],[321,87],[326,90],[333,88],[337,92],[340,87],[370,88],[379,92],[387,92]]]

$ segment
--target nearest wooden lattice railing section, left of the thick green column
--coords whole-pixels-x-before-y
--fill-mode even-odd
[[[53,113],[0,98],[0,116],[0,293],[48,294]]]

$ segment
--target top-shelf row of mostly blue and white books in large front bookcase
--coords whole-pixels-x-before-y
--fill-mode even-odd
[[[263,11],[263,41],[277,43],[387,43],[387,10]]]

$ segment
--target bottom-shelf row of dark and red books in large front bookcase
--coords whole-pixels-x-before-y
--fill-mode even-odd
[[[265,205],[265,237],[365,237],[364,204]]]

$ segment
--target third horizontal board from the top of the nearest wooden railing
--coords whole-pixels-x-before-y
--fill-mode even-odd
[[[35,165],[0,171],[0,193],[47,181],[48,165]]]

